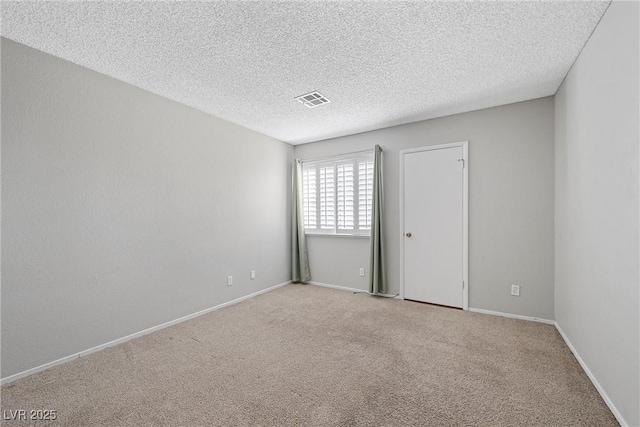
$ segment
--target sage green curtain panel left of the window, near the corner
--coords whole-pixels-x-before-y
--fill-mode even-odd
[[[307,236],[304,234],[304,212],[302,208],[302,162],[293,161],[293,194],[291,200],[291,280],[307,283],[311,280]]]

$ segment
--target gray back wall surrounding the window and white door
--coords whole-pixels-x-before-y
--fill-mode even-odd
[[[469,305],[553,319],[553,98],[298,145],[310,159],[384,146],[391,293],[399,290],[399,150],[469,141]],[[368,239],[310,236],[312,280],[366,289]],[[368,271],[367,271],[368,273]],[[521,296],[510,296],[510,285]]]

